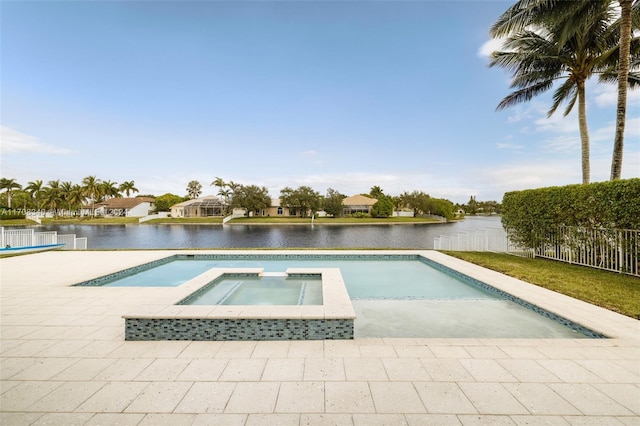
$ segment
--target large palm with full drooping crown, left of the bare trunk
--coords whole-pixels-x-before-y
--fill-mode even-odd
[[[530,5],[555,2],[520,0],[517,4],[522,3]],[[515,26],[516,30],[509,33],[504,43],[505,50],[493,52],[490,66],[497,65],[511,70],[511,87],[517,89],[505,97],[497,109],[529,101],[549,90],[556,80],[565,80],[554,92],[553,105],[547,116],[551,116],[563,102],[567,103],[564,111],[566,116],[576,102],[578,103],[582,182],[589,183],[590,144],[585,83],[593,74],[600,74],[601,81],[611,81],[614,78],[618,58],[613,53],[617,49],[618,38],[611,28],[614,20],[609,2],[564,3],[574,5],[564,7],[556,4],[555,14],[553,10],[544,7],[530,11],[529,20],[523,20],[529,27]],[[505,14],[511,14],[512,9],[513,7]],[[493,35],[501,34],[497,30],[494,32],[494,29],[504,28],[503,17],[492,28]],[[518,19],[521,19],[521,16],[518,16]]]

